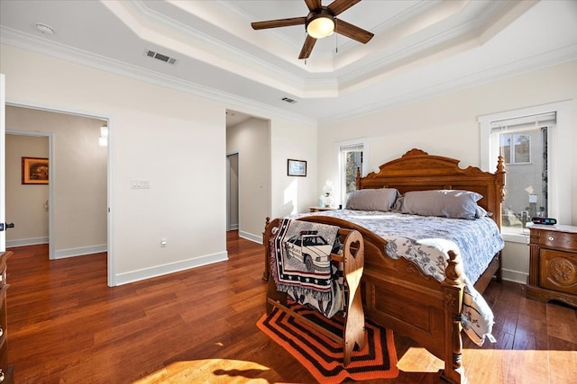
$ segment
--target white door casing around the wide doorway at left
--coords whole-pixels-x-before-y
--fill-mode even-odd
[[[114,247],[112,246],[114,244],[114,237],[113,237],[113,228],[112,228],[112,223],[114,222],[113,220],[113,210],[112,210],[112,188],[113,188],[113,182],[112,182],[112,174],[113,174],[113,169],[112,169],[112,165],[113,165],[113,137],[114,137],[114,128],[113,128],[113,121],[114,118],[112,116],[104,116],[101,115],[99,113],[96,112],[78,112],[78,111],[74,111],[74,110],[66,110],[66,109],[56,109],[53,107],[49,107],[49,106],[45,106],[45,105],[41,105],[41,104],[34,104],[34,103],[12,103],[12,102],[8,102],[5,101],[5,105],[7,106],[14,106],[14,107],[20,107],[20,108],[28,108],[28,109],[32,109],[32,110],[40,110],[40,111],[46,111],[46,112],[54,112],[54,113],[64,113],[64,114],[70,114],[70,115],[75,115],[75,116],[81,116],[81,117],[86,117],[89,119],[97,119],[97,120],[106,120],[108,121],[107,126],[108,126],[108,146],[106,149],[106,210],[107,210],[107,216],[106,216],[106,231],[107,231],[107,239],[106,239],[106,269],[107,269],[107,285],[109,287],[114,287],[116,286],[116,279],[115,279],[115,268],[114,268]],[[39,133],[43,133],[43,132],[39,132]],[[50,133],[51,135],[51,133]],[[5,138],[5,135],[4,135]],[[50,141],[50,160],[52,158],[54,158],[54,146],[51,144],[52,141],[49,139]],[[50,168],[54,169],[53,167],[53,162],[51,162],[50,164]],[[52,221],[51,221],[51,216],[52,216],[52,211],[53,211],[53,201],[52,201],[52,188],[53,188],[53,183],[50,180],[49,183],[50,187],[49,187],[49,242],[51,245],[55,244],[53,243],[53,241],[55,241],[55,235],[53,234],[53,231],[50,230],[50,227],[52,226]],[[49,258],[53,258],[54,255],[50,255],[54,253],[54,246],[49,246],[49,249],[52,248],[51,251],[49,251]]]

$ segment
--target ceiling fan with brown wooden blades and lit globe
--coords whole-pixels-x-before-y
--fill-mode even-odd
[[[361,0],[334,0],[328,6],[321,4],[321,0],[305,0],[309,13],[303,17],[291,17],[289,19],[268,20],[266,22],[252,22],[252,29],[264,30],[267,28],[289,27],[291,25],[304,24],[307,30],[307,39],[300,50],[298,58],[308,58],[315,47],[317,39],[322,39],[333,34],[342,34],[350,39],[366,44],[374,36],[370,31],[365,31],[356,25],[337,19],[340,13],[351,8]]]

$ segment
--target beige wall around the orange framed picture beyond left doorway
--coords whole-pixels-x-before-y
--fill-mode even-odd
[[[48,154],[47,137],[6,135],[6,220],[14,223],[6,231],[7,247],[48,243],[48,184],[22,183],[22,158]]]

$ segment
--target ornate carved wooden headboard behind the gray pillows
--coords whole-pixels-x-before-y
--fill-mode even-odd
[[[361,177],[357,170],[357,189],[396,188],[398,192],[439,189],[466,190],[483,195],[479,205],[491,212],[492,219],[501,226],[501,202],[504,199],[505,166],[499,156],[497,171],[483,172],[476,166],[459,167],[459,160],[431,156],[417,148],[405,155],[380,165],[378,174],[371,172]]]

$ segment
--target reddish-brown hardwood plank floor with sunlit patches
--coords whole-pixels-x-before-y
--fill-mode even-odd
[[[11,249],[8,360],[15,382],[313,382],[255,326],[264,313],[262,246],[236,232],[227,246],[227,262],[114,288],[106,286],[105,254],[49,261],[47,246]],[[575,382],[573,308],[526,299],[524,285],[507,281],[491,282],[484,296],[496,316],[497,343],[479,348],[463,336],[470,384]],[[441,382],[442,362],[395,339],[401,372],[379,382]]]

